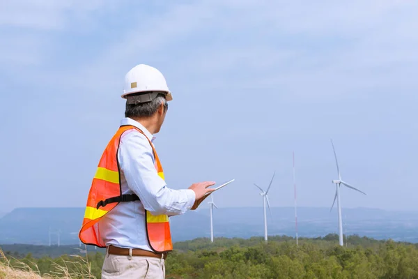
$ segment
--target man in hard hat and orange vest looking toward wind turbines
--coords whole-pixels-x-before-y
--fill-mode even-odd
[[[153,145],[172,100],[162,73],[140,64],[125,76],[125,118],[102,154],[79,239],[106,248],[102,278],[165,278],[169,216],[196,209],[212,181],[173,190]]]

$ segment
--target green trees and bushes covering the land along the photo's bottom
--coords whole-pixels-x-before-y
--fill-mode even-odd
[[[6,251],[3,266],[19,270],[23,263],[40,275],[53,276],[61,272],[68,276],[60,278],[100,278],[104,259],[102,252],[54,259],[36,258],[31,254],[14,259],[12,254]],[[175,251],[169,255],[166,267],[167,279],[412,279],[418,278],[418,246],[349,236],[348,247],[340,247],[336,235],[300,239],[299,246],[294,239],[285,236],[272,236],[267,245],[258,237],[215,239],[214,243],[195,239],[175,243]]]

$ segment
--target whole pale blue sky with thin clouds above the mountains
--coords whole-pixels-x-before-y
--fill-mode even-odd
[[[416,210],[415,1],[0,3],[0,211],[85,206],[123,117],[125,73],[160,69],[173,101],[155,142],[171,188],[230,186],[220,207]],[[206,206],[206,205],[204,205]]]

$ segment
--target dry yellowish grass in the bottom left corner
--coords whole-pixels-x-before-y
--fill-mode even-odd
[[[63,265],[52,262],[54,271],[50,271],[48,274],[40,275],[40,271],[36,264],[36,271],[31,269],[27,264],[18,262],[17,266],[10,265],[10,260],[4,255],[0,249],[0,279],[75,279],[75,278],[88,278],[95,279],[95,276],[91,274],[91,266],[86,260],[79,255],[72,255],[72,257],[78,257],[78,262],[63,261]],[[3,260],[1,260],[3,259]],[[68,266],[71,265],[75,271],[70,272]]]

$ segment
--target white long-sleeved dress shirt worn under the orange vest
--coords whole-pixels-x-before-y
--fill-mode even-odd
[[[118,149],[122,194],[135,193],[140,201],[120,202],[109,211],[99,221],[100,236],[107,246],[151,250],[144,208],[153,215],[180,215],[193,206],[195,194],[190,189],[173,190],[166,186],[157,174],[153,149],[146,139],[153,142],[154,137],[141,123],[124,118],[121,125],[136,126],[145,134],[137,130],[123,133]]]

